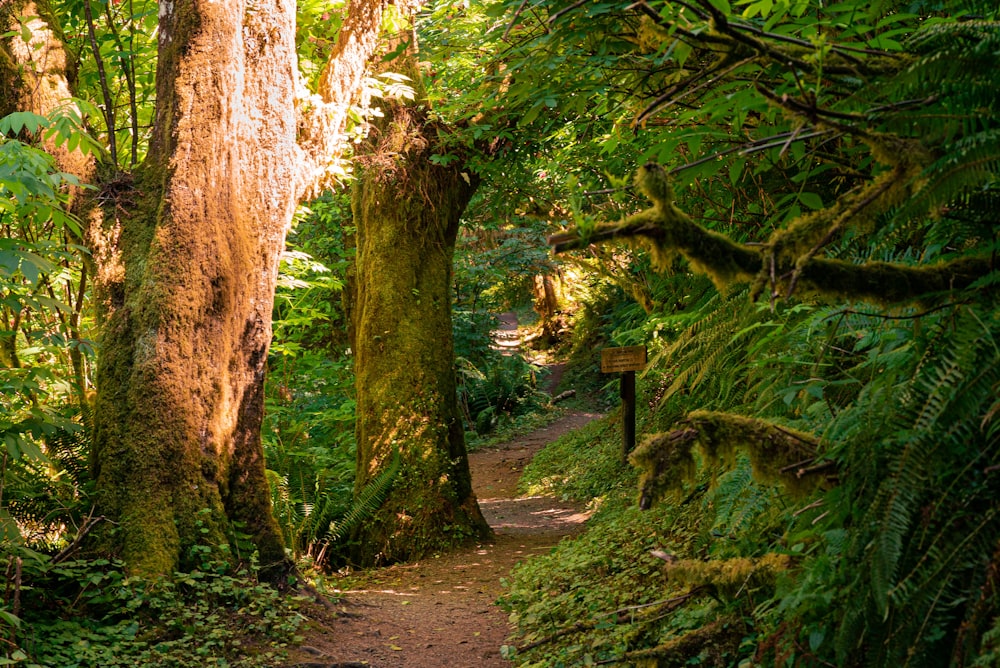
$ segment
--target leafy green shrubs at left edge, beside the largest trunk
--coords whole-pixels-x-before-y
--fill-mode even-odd
[[[0,133],[79,142],[79,119],[15,113]],[[81,521],[88,476],[79,416],[94,345],[86,338],[85,251],[51,156],[0,135],[0,544],[53,547]],[[75,140],[73,138],[76,138]],[[86,146],[84,141],[79,146]],[[77,408],[70,408],[73,404]]]

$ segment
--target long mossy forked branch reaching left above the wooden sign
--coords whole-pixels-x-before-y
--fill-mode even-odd
[[[889,177],[886,177],[889,178]],[[821,299],[837,301],[865,300],[881,304],[898,304],[925,300],[928,296],[949,293],[969,287],[996,269],[989,256],[958,258],[933,265],[909,266],[889,262],[854,264],[832,258],[816,257],[815,244],[804,254],[790,252],[791,237],[808,231],[810,239],[818,229],[829,229],[827,221],[813,220],[817,213],[807,214],[788,230],[775,235],[774,244],[749,246],[723,234],[706,230],[674,204],[674,193],[660,165],[649,163],[636,174],[637,186],[653,202],[653,206],[616,223],[604,223],[589,233],[569,230],[549,237],[556,253],[585,248],[592,243],[612,240],[647,248],[657,267],[665,268],[675,255],[682,255],[693,271],[707,275],[720,289],[734,283],[753,283],[755,294],[770,284],[772,295],[791,296],[792,290]],[[876,181],[872,193],[864,191],[841,206],[829,209],[834,229],[843,229],[842,213],[860,215],[858,203],[865,207],[881,206],[888,199],[885,184]],[[878,193],[877,196],[871,195]],[[821,213],[821,212],[820,212]],[[871,215],[865,213],[866,217]],[[776,251],[776,246],[780,248]],[[784,282],[786,287],[779,285]]]

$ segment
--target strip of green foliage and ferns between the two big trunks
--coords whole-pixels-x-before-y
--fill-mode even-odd
[[[335,200],[314,204],[317,227],[336,211]],[[346,269],[339,241],[314,229],[304,242],[330,258],[333,271],[304,251],[286,253],[265,388],[272,508],[293,554],[320,564],[331,556],[330,526],[350,511],[354,487],[354,378],[337,333]]]

